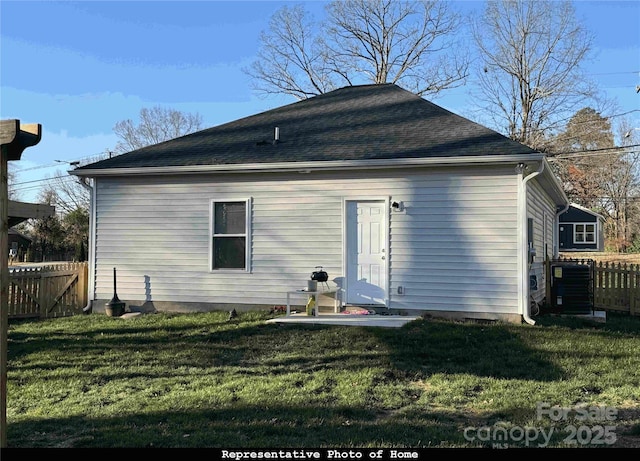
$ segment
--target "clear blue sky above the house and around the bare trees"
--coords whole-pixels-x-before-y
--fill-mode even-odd
[[[0,0],[0,116],[40,123],[42,140],[15,162],[18,198],[64,164],[112,150],[114,125],[140,109],[199,113],[210,127],[293,99],[256,96],[242,71],[280,1]],[[305,1],[316,17],[325,2]],[[451,2],[463,13],[483,2]],[[594,34],[588,73],[640,127],[640,1],[576,1]],[[465,115],[468,88],[434,99]],[[21,171],[20,171],[21,170]]]

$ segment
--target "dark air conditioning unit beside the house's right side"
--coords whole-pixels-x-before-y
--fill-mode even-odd
[[[593,264],[553,263],[551,265],[551,306],[561,314],[591,314],[593,305]]]

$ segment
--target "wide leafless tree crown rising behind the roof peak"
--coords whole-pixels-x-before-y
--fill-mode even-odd
[[[245,71],[259,92],[298,99],[357,83],[396,83],[435,95],[467,77],[466,47],[456,46],[460,25],[440,0],[333,1],[316,27],[303,6],[285,6]]]

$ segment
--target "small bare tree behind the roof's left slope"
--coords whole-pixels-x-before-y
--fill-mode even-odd
[[[123,120],[113,128],[120,138],[116,152],[124,153],[178,138],[202,128],[200,114],[188,114],[160,106],[140,110],[140,122]]]

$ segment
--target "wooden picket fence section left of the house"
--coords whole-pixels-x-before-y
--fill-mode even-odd
[[[88,264],[12,268],[9,273],[9,318],[65,317],[87,305]]]

